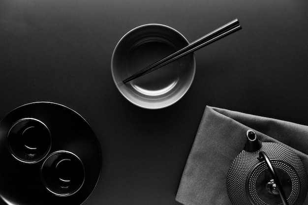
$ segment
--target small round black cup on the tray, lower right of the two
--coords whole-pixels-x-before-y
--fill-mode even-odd
[[[50,154],[41,168],[41,179],[52,194],[66,197],[79,191],[85,181],[85,169],[74,153],[60,150]]]

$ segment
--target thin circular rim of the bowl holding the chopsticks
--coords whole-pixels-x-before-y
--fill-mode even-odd
[[[123,82],[116,82],[116,79],[115,79],[115,75],[114,75],[114,70],[113,70],[113,65],[114,65],[114,58],[115,58],[115,53],[116,51],[118,50],[118,47],[120,46],[121,42],[123,41],[124,38],[126,38],[131,32],[137,30],[137,29],[141,29],[141,28],[144,28],[144,27],[150,27],[150,26],[157,26],[157,27],[164,27],[164,28],[167,28],[167,29],[170,29],[170,30],[173,30],[174,32],[178,33],[182,38],[183,40],[185,40],[187,42],[187,44],[189,44],[189,41],[185,38],[185,36],[179,32],[178,30],[170,27],[170,26],[167,26],[167,25],[164,25],[164,24],[158,24],[158,23],[151,23],[151,24],[144,24],[144,25],[140,25],[138,27],[135,27],[133,29],[130,29],[128,32],[126,32],[121,38],[120,40],[118,41],[115,49],[113,50],[113,53],[112,53],[112,57],[111,57],[111,74],[112,74],[112,78],[113,78],[113,81],[117,87],[117,89],[119,90],[119,92],[123,95],[123,97],[129,101],[130,103],[132,103],[133,105],[136,105],[140,108],[144,108],[144,109],[150,109],[150,110],[157,110],[157,109],[162,109],[162,108],[166,108],[166,107],[169,107],[173,104],[175,104],[176,102],[178,102],[180,99],[182,99],[182,97],[186,94],[186,92],[189,90],[189,88],[191,87],[191,84],[193,82],[193,79],[195,77],[195,73],[196,73],[196,59],[195,59],[195,56],[194,56],[194,53],[192,53],[193,55],[193,59],[192,59],[192,67],[193,67],[193,73],[192,73],[192,78],[191,78],[191,81],[189,82],[188,84],[188,87],[187,89],[185,90],[185,92],[177,99],[175,100],[174,102],[172,103],[169,103],[169,104],[166,104],[166,105],[163,105],[163,106],[157,106],[157,107],[151,107],[151,106],[143,106],[143,105],[140,105],[138,103],[135,103],[133,100],[129,99],[128,97],[126,97],[123,92],[121,91],[119,85],[120,84],[123,84]]]

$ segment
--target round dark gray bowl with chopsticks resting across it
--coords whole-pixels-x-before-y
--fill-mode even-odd
[[[180,100],[195,75],[195,58],[189,54],[126,84],[135,72],[188,45],[177,30],[161,24],[147,24],[127,32],[117,44],[111,59],[116,87],[132,104],[160,109]]]

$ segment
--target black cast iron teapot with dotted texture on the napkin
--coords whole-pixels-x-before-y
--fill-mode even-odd
[[[232,205],[303,205],[308,175],[299,156],[281,144],[261,143],[252,130],[246,137],[227,176]]]

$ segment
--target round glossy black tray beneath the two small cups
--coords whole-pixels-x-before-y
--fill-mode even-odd
[[[14,123],[23,118],[40,120],[48,127],[52,144],[46,157],[55,151],[65,150],[80,158],[84,165],[85,180],[78,192],[61,197],[45,187],[40,169],[46,157],[29,164],[12,155],[7,135]],[[14,109],[0,120],[0,163],[0,204],[80,205],[97,184],[101,170],[101,150],[90,125],[78,113],[57,103],[34,102]]]

